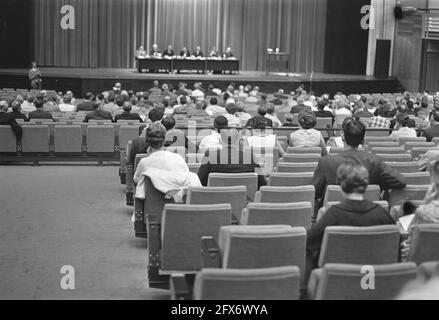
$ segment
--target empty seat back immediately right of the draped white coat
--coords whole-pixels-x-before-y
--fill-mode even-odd
[[[234,187],[192,187],[188,189],[187,204],[219,204],[230,203],[232,221],[241,220],[242,209],[247,205],[247,188]]]

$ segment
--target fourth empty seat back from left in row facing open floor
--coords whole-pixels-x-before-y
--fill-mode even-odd
[[[87,126],[87,152],[114,152],[114,130],[112,125],[101,124]]]

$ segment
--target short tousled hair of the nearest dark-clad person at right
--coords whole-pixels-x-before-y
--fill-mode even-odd
[[[345,193],[365,193],[369,184],[369,172],[365,167],[342,163],[337,169],[337,184]]]

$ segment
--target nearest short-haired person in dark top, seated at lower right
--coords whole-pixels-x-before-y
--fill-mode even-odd
[[[331,206],[313,225],[307,235],[308,255],[318,257],[320,247],[328,226],[357,226],[395,224],[390,214],[379,204],[364,199],[369,184],[368,170],[358,164],[344,163],[337,169],[337,184],[345,198],[339,204]],[[314,266],[316,266],[314,261]]]

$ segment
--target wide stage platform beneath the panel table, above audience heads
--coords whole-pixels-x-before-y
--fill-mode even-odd
[[[143,91],[152,86],[154,80],[172,83],[177,87],[180,81],[192,85],[196,81],[203,82],[204,86],[214,84],[226,88],[234,82],[236,85],[258,85],[262,91],[273,93],[279,88],[286,92],[295,90],[304,84],[306,90],[313,90],[316,94],[334,94],[341,91],[350,93],[386,93],[399,92],[403,88],[398,79],[389,77],[378,79],[365,75],[340,75],[326,73],[270,73],[258,71],[240,71],[238,74],[198,74],[194,73],[139,73],[134,69],[85,69],[85,68],[40,68],[43,74],[43,88],[72,90],[75,95],[82,95],[87,91],[94,93],[109,90],[117,81],[123,88]],[[0,69],[1,88],[29,88],[28,70]]]

